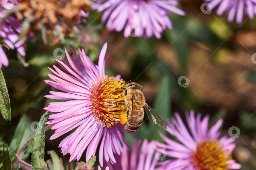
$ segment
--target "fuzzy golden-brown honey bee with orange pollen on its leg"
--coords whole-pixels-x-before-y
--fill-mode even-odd
[[[127,83],[129,84],[126,88],[117,88],[124,91],[122,93],[124,103],[119,102],[119,104],[127,106],[126,115],[123,114],[120,117],[120,122],[124,124],[125,130],[128,132],[138,130],[143,122],[145,112],[152,123],[167,129],[167,125],[162,117],[146,103],[142,86],[137,82],[129,81]]]

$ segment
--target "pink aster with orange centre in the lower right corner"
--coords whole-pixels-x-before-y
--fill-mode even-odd
[[[178,113],[168,122],[167,131],[176,137],[176,140],[160,134],[166,144],[157,145],[166,151],[172,160],[160,162],[162,169],[175,170],[215,170],[215,169],[240,169],[241,165],[232,159],[235,148],[235,138],[223,136],[219,138],[219,120],[208,130],[209,116],[201,120],[201,114],[195,118],[194,112],[186,113],[188,128],[182,122]]]

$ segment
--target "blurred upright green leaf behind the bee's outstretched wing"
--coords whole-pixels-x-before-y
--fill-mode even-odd
[[[169,90],[169,79],[167,76],[164,76],[159,88],[158,94],[156,96],[153,109],[166,121],[171,116],[171,95]],[[161,131],[163,134],[166,134],[167,131],[158,125],[155,125],[150,122],[150,135],[148,136],[150,140],[162,141],[162,138],[159,136],[158,132]]]

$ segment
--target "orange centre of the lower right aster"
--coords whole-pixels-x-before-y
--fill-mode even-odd
[[[197,149],[191,154],[191,162],[198,170],[228,170],[227,161],[232,157],[228,150],[222,150],[218,140],[206,139],[197,143]]]

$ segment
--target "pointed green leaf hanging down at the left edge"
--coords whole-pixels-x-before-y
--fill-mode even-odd
[[[3,77],[3,72],[0,69],[0,112],[3,115],[4,120],[11,120],[11,105],[7,86]]]

